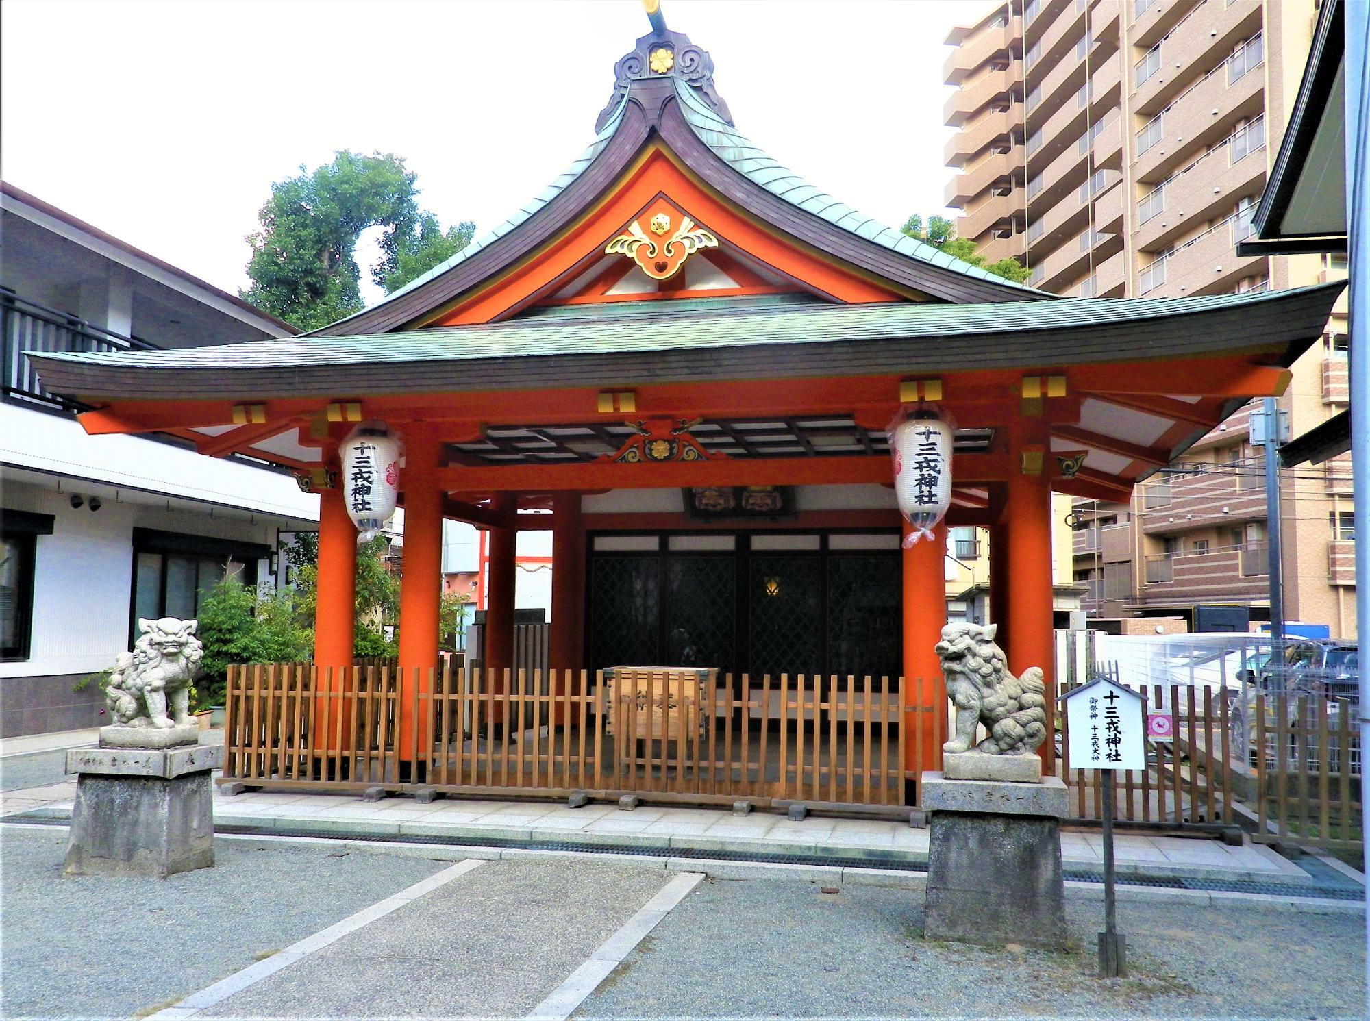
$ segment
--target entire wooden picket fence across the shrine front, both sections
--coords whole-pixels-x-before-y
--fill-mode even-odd
[[[893,812],[917,806],[922,771],[941,768],[948,714],[940,679],[674,673],[710,679],[686,695],[671,684],[611,683],[603,672],[497,673],[453,657],[438,671],[414,672],[401,690],[397,668],[385,662],[233,667],[223,779],[319,791],[586,791]],[[1118,775],[1119,821],[1240,825],[1263,842],[1359,846],[1354,706],[1258,695],[1238,708],[1241,694],[1221,687],[1137,690],[1148,714],[1169,720],[1170,736],[1148,742],[1147,769]],[[1234,725],[1236,714],[1254,724]],[[1054,771],[1070,788],[1070,817],[1096,821],[1100,775],[1069,761],[1064,717],[1056,725]]]

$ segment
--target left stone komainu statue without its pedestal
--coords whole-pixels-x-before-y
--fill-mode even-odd
[[[204,646],[195,636],[196,620],[138,620],[142,635],[132,653],[119,653],[104,691],[119,727],[179,727],[190,720],[190,684],[200,671]]]

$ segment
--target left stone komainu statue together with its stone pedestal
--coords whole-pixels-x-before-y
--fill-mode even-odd
[[[197,621],[140,620],[132,653],[121,653],[105,702],[114,723],[100,746],[67,751],[77,799],[63,872],[68,876],[158,876],[214,865],[210,773],[222,745],[200,745],[190,684],[204,646]]]

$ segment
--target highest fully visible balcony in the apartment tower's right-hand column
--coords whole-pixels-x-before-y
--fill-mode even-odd
[[[1265,108],[1263,62],[1225,60],[1186,88],[1137,133],[1133,175],[1156,183],[1230,135]]]

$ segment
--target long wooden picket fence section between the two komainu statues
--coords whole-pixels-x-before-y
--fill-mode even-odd
[[[925,705],[906,706],[897,677],[726,675],[701,686],[688,734],[670,731],[670,698],[615,688],[603,672],[448,667],[416,671],[407,693],[399,677],[388,665],[230,668],[223,777],[316,790],[900,806],[906,779],[917,784],[919,775],[904,769],[910,746],[914,761],[938,768],[945,739],[945,714],[930,708],[940,691],[934,701],[932,686],[915,682]],[[644,699],[659,727],[644,727]],[[930,721],[926,732],[908,725],[914,714]]]

